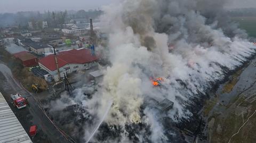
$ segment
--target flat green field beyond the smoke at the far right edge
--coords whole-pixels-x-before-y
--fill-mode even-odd
[[[233,21],[239,23],[239,27],[247,31],[250,37],[256,38],[256,17],[233,17]]]

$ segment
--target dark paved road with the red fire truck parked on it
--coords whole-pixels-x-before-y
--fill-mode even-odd
[[[0,89],[3,90],[3,95],[7,102],[9,102],[9,105],[11,105],[10,94],[19,93],[23,97],[28,98],[28,107],[21,110],[13,106],[11,108],[27,132],[30,125],[36,124],[38,126],[39,138],[35,137],[33,142],[68,142],[47,118],[31,93],[23,89],[20,83],[13,78],[11,70],[6,65],[0,63],[0,72],[4,75],[4,77],[0,78]]]

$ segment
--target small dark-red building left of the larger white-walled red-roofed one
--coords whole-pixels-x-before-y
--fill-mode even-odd
[[[32,67],[38,65],[38,59],[33,54],[23,51],[13,54],[15,58],[21,60],[22,64],[27,67]]]

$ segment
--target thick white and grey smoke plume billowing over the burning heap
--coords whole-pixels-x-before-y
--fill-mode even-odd
[[[111,66],[98,94],[99,111],[113,100],[108,125],[125,130],[127,124],[145,123],[151,141],[165,142],[157,111],[147,107],[141,111],[146,99],[167,98],[174,102],[167,116],[177,122],[189,118],[190,99],[221,80],[224,69],[234,70],[254,53],[255,45],[244,39],[246,34],[221,18],[224,3],[124,0],[104,8],[101,21],[109,33]],[[163,77],[162,86],[153,87],[150,77]]]

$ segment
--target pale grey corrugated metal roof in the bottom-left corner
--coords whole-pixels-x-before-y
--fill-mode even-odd
[[[0,92],[0,142],[30,143],[28,134]]]

